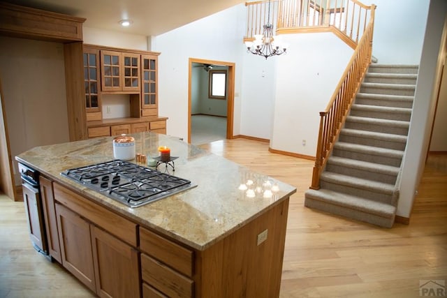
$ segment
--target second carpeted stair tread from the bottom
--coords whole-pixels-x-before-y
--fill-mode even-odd
[[[330,182],[332,184],[339,184],[350,186],[353,188],[365,189],[375,193],[383,193],[386,195],[393,195],[394,185],[369,179],[362,179],[358,177],[347,176],[335,172],[323,172],[320,177],[321,180]]]

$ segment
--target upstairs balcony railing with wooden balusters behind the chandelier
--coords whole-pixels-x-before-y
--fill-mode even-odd
[[[372,17],[372,6],[357,0],[276,0],[246,2],[247,35],[253,40],[263,33],[270,20],[276,33],[332,31],[348,45],[356,48]]]

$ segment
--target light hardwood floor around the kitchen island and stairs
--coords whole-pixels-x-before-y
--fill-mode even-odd
[[[253,140],[200,146],[298,191],[291,197],[280,297],[420,297],[420,281],[447,283],[447,156],[430,156],[409,225],[392,229],[304,207],[312,161]],[[22,202],[0,195],[0,297],[93,297],[38,255]]]

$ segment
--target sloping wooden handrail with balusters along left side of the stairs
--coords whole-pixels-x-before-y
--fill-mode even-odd
[[[335,141],[342,130],[346,117],[356,97],[360,84],[372,57],[372,36],[374,31],[374,11],[376,6],[371,6],[371,18],[365,32],[360,39],[356,50],[349,61],[342,79],[337,84],[334,94],[330,98],[328,106],[320,112],[320,129],[316,149],[316,161],[312,175],[310,188],[320,188],[321,172],[332,153]]]

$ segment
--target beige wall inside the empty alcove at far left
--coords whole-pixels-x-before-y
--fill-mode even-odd
[[[0,36],[0,77],[13,158],[33,147],[68,142],[64,45]]]

